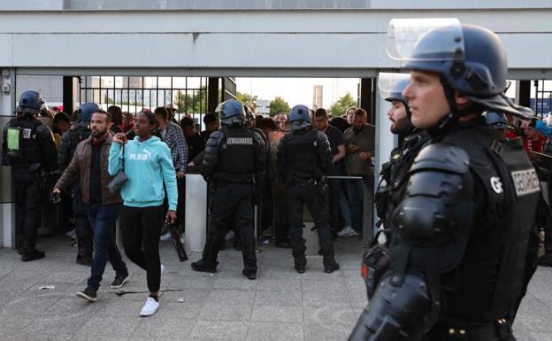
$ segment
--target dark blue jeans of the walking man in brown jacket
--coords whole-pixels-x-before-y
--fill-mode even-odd
[[[117,275],[126,275],[128,270],[115,244],[115,223],[119,217],[120,204],[89,205],[88,220],[94,230],[94,259],[88,287],[97,291],[102,282],[107,260]]]

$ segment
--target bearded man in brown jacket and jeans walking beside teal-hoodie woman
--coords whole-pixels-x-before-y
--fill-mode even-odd
[[[108,157],[113,140],[109,126],[111,116],[99,109],[92,114],[90,128],[92,135],[81,141],[73,154],[73,159],[54,187],[54,195],[69,187],[79,178],[82,201],[87,205],[88,219],[94,230],[94,260],[88,285],[77,296],[96,301],[96,292],[102,282],[107,260],[115,270],[115,280],[111,288],[121,288],[128,279],[128,270],[115,244],[115,222],[119,217],[121,198],[112,195],[107,189],[111,176],[107,171]]]

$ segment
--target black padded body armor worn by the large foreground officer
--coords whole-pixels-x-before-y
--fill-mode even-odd
[[[471,326],[510,326],[525,295],[540,184],[521,141],[482,120],[434,141],[410,167],[390,217],[392,264],[349,340],[441,339],[458,329],[478,339]]]

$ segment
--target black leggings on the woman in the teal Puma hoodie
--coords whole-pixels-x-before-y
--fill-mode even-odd
[[[159,236],[164,218],[163,205],[149,207],[123,205],[121,212],[126,257],[146,270],[150,292],[159,291],[161,283]]]

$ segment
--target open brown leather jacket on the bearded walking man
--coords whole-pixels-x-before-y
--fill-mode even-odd
[[[88,137],[86,140],[81,141],[77,144],[77,148],[73,154],[73,159],[67,168],[65,168],[64,174],[56,183],[54,188],[59,190],[65,190],[77,180],[80,179],[80,192],[82,195],[82,201],[85,204],[90,204],[90,162],[92,159],[92,145],[90,140],[92,136]],[[102,164],[100,165],[101,170],[101,187],[102,187],[102,205],[108,204],[117,204],[122,203],[123,200],[119,195],[113,196],[111,192],[107,189],[108,183],[113,179],[112,176],[107,172],[109,151],[111,148],[111,143],[113,142],[113,137],[111,134],[107,136],[107,139],[102,144]]]

